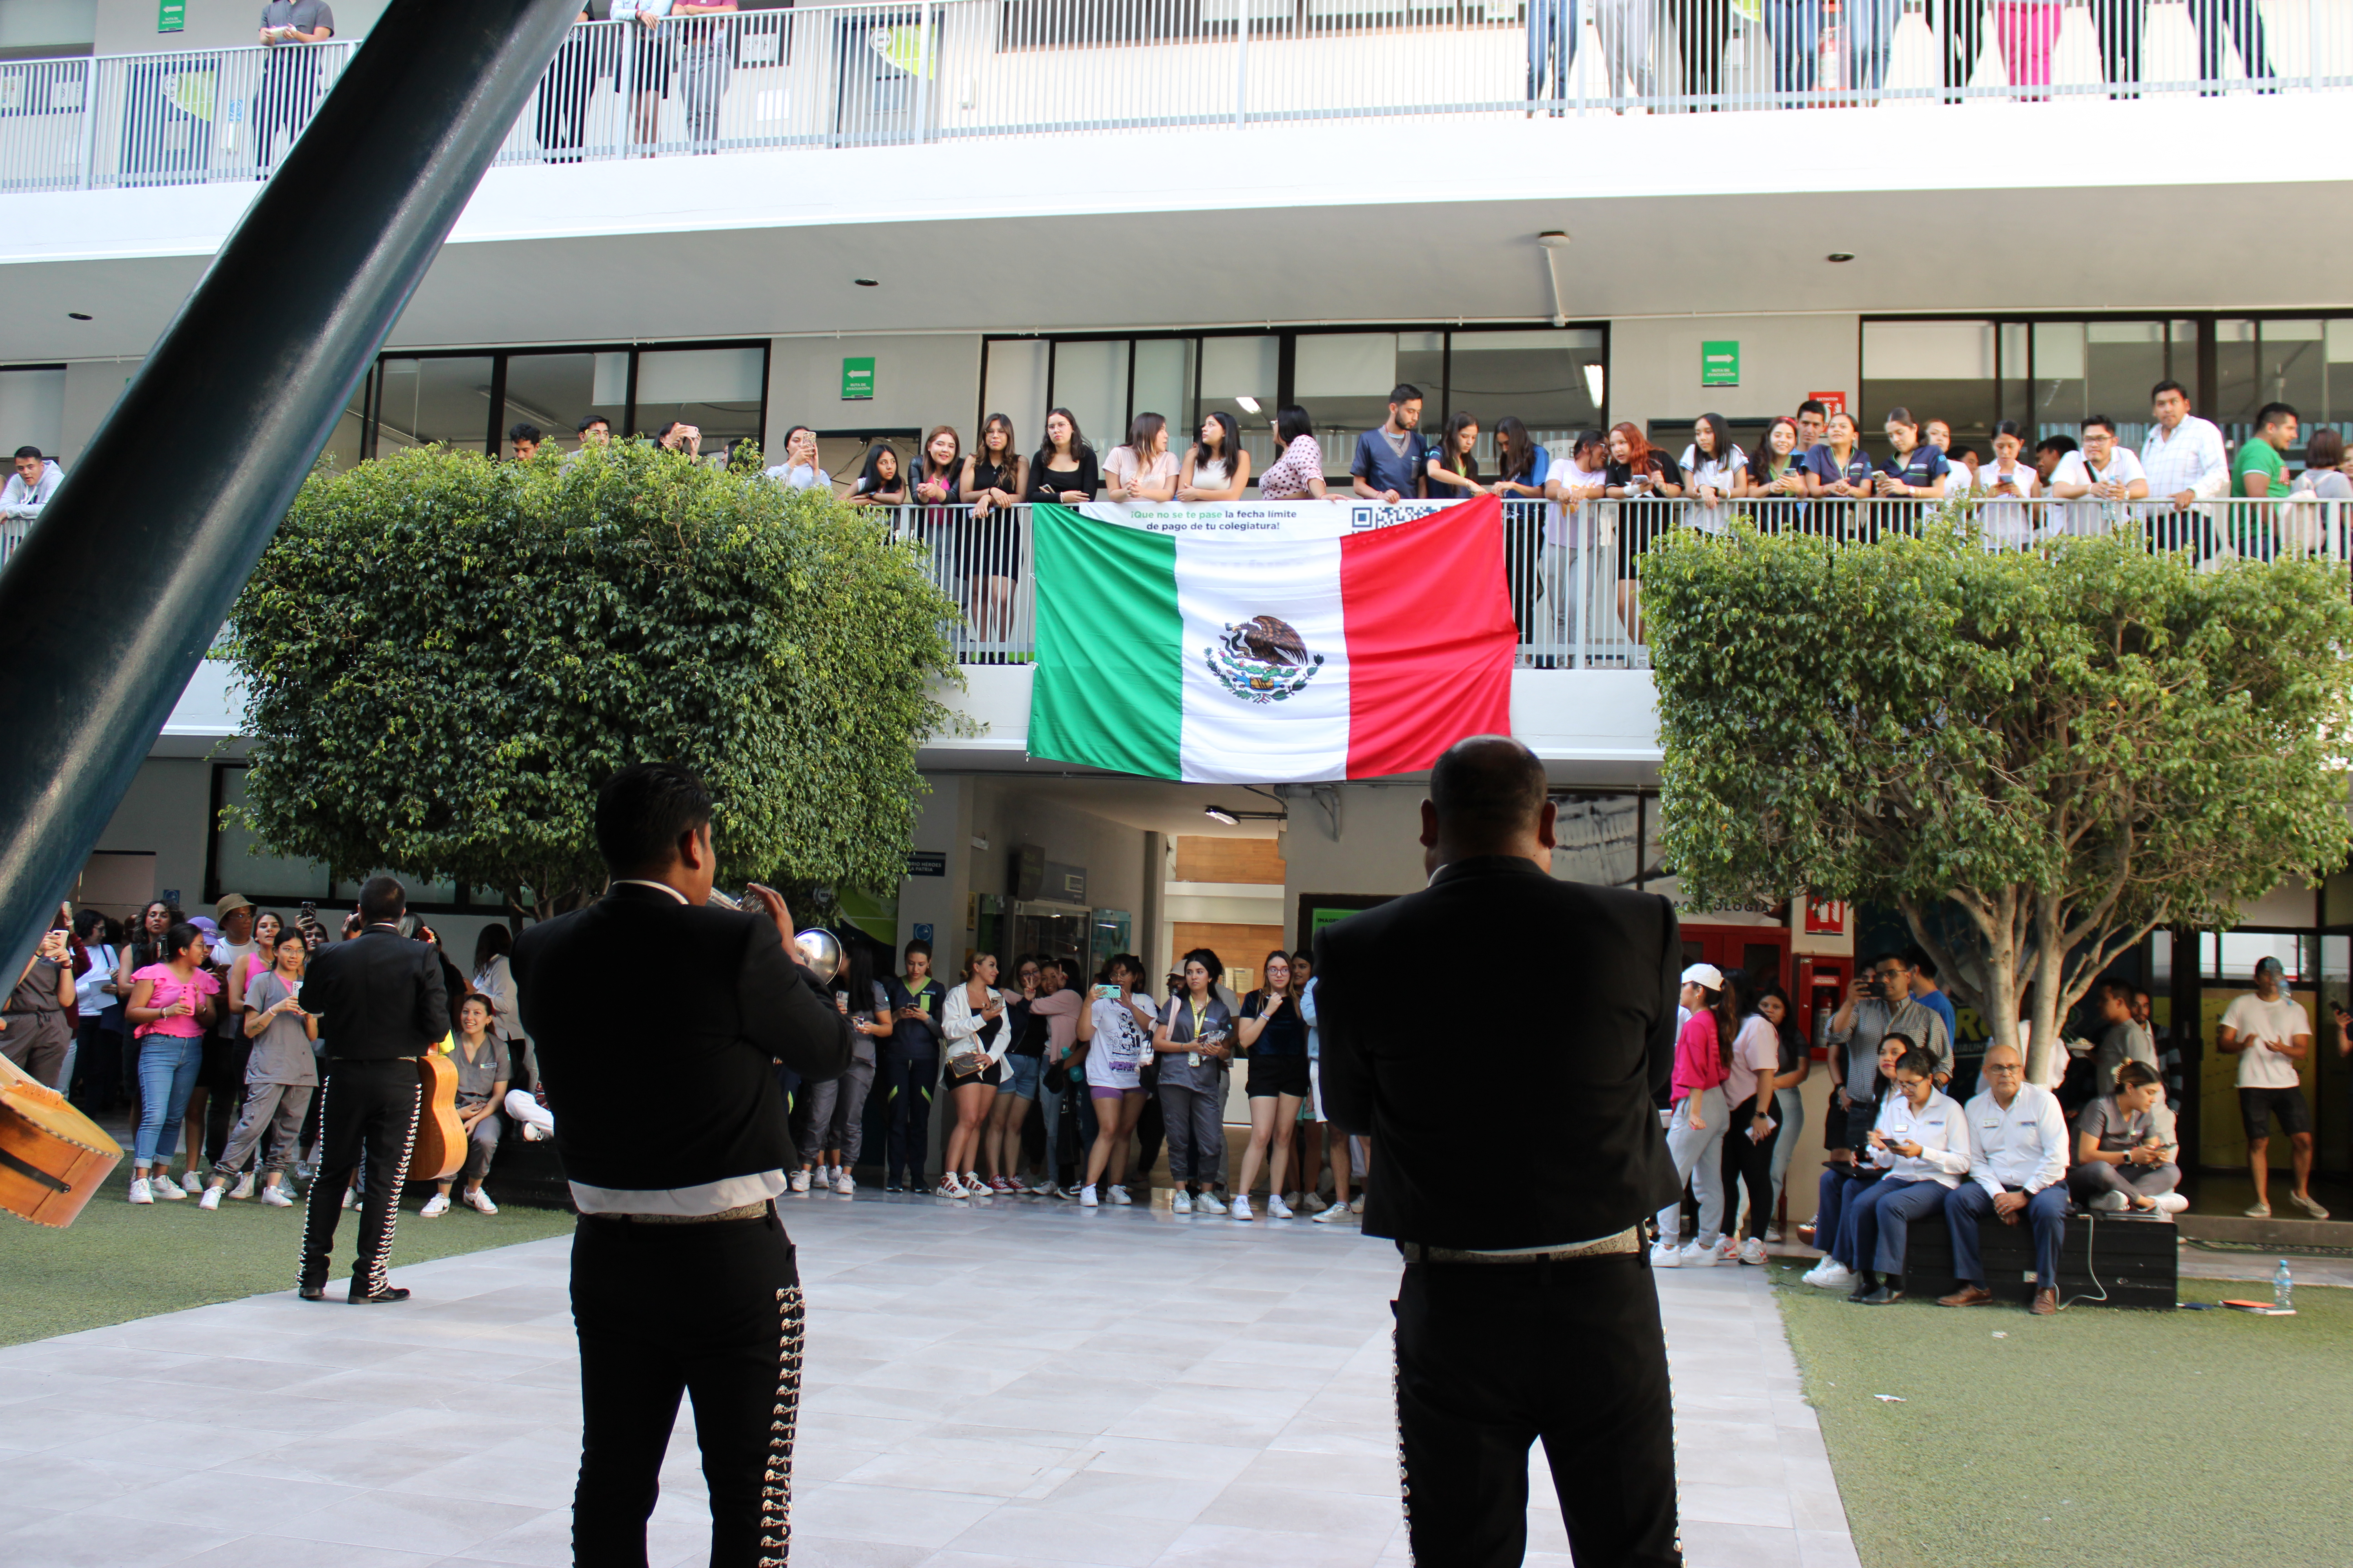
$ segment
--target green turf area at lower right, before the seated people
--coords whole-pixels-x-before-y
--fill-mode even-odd
[[[1800,1269],[1777,1298],[1864,1568],[2353,1563],[2353,1291],[2297,1286],[2285,1319],[2038,1319],[1857,1307]],[[2271,1286],[2181,1281],[2224,1298]]]

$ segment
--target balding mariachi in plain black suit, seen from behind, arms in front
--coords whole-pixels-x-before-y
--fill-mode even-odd
[[[1579,1563],[1680,1563],[1666,1338],[1642,1220],[1682,1182],[1659,1105],[1682,945],[1666,898],[1551,877],[1553,802],[1518,741],[1449,748],[1421,802],[1431,884],[1315,940],[1322,1095],[1372,1128],[1365,1232],[1405,1255],[1398,1450],[1421,1568],[1527,1544],[1544,1439]],[[1492,994],[1431,987],[1440,954],[1520,954]],[[1433,1006],[1435,1004],[1435,1006]],[[1489,1150],[1466,1164],[1461,1150]]]

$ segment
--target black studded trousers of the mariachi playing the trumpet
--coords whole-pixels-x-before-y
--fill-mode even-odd
[[[678,1396],[711,1490],[711,1568],[784,1568],[793,1542],[800,1272],[774,1204],[758,1220],[572,1232],[581,1342],[576,1568],[647,1568],[645,1521]]]

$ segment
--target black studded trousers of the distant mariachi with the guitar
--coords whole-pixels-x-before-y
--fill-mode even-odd
[[[327,1058],[327,1081],[320,1086],[320,1154],[311,1178],[311,1204],[301,1222],[301,1284],[322,1286],[332,1267],[334,1225],[341,1218],[344,1190],[367,1154],[367,1182],[360,1190],[360,1255],[351,1265],[351,1293],[374,1295],[384,1288],[384,1265],[393,1255],[393,1225],[400,1220],[400,1187],[409,1180],[409,1150],[416,1147],[416,1107],[424,1088],[414,1058],[388,1063],[346,1063]],[[195,1168],[191,1152],[188,1168]]]

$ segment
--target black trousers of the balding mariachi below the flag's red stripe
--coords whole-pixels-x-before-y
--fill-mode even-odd
[[[1522,1559],[1537,1439],[1579,1563],[1682,1563],[1666,1333],[1647,1258],[1407,1265],[1398,1462],[1421,1568]]]

